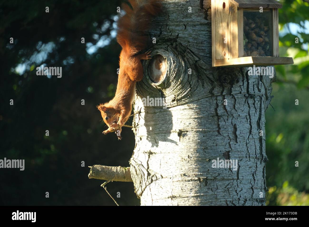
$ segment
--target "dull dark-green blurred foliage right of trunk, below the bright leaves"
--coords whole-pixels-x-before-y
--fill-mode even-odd
[[[297,191],[309,192],[308,90],[273,83],[273,108],[266,111],[266,185],[280,191],[285,181]],[[295,105],[298,99],[299,105]],[[295,162],[298,161],[298,167]],[[274,194],[275,196],[277,194]],[[272,200],[274,201],[274,200]],[[270,205],[274,205],[270,201]]]

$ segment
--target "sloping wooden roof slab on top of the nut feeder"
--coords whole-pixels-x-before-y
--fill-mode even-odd
[[[282,8],[282,5],[276,0],[230,0],[239,8]]]

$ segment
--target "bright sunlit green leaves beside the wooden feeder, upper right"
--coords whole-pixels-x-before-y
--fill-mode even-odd
[[[278,80],[297,84],[298,88],[309,85],[309,31],[308,25],[309,3],[303,0],[283,0],[279,9],[279,35],[284,29],[287,34],[279,38],[279,54],[281,57],[293,57],[294,65],[275,66]],[[306,22],[307,21],[307,22]],[[293,34],[291,27],[294,27]],[[295,29],[297,28],[297,29]],[[295,42],[298,38],[298,43]]]

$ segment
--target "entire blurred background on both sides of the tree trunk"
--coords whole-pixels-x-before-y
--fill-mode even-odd
[[[276,111],[266,112],[266,204],[308,205],[309,5],[281,3],[280,56],[301,61],[276,66]],[[96,109],[116,90],[117,6],[115,0],[0,1],[0,159],[25,159],[24,171],[0,169],[0,205],[115,205],[103,181],[88,179],[87,166],[129,166],[135,144],[130,128],[123,128],[122,141],[103,135]],[[62,67],[62,78],[36,75],[41,64]],[[139,205],[133,183],[112,182],[107,189],[120,205]]]

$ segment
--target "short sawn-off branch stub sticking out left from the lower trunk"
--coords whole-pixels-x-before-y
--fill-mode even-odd
[[[130,167],[101,165],[88,167],[90,168],[89,179],[132,182]]]

